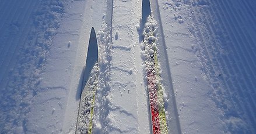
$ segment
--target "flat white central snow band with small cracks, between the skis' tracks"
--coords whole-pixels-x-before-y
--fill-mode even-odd
[[[113,59],[111,60],[111,68],[127,68],[128,70],[126,73],[125,70],[110,70],[110,95],[112,96],[111,105],[120,106],[128,113],[131,113],[135,118],[127,117],[127,115],[120,113],[117,110],[110,110],[108,115],[115,114],[114,117],[108,117],[110,119],[110,125],[108,127],[112,127],[113,130],[110,129],[110,133],[113,132],[138,132],[141,125],[138,124],[138,111],[136,112],[136,81],[135,81],[135,74],[133,73],[135,70],[134,64],[134,47],[136,44],[136,39],[134,32],[136,30],[135,27],[135,19],[138,15],[135,14],[134,10],[136,8],[135,3],[138,1],[114,1],[114,8],[113,8],[113,20],[112,20],[112,33],[119,32],[118,37],[113,39],[113,47],[112,55]],[[137,6],[138,7],[138,6]],[[123,46],[121,49],[115,49],[115,46]],[[129,49],[124,49],[129,48]],[[122,77],[118,79],[121,75]],[[120,82],[125,84],[125,88],[121,90],[118,86],[114,85],[113,82]],[[128,90],[129,89],[129,90]],[[127,94],[128,90],[128,94]],[[121,93],[121,96],[119,96]],[[119,101],[122,99],[122,101]],[[129,101],[129,104],[124,104],[124,102]],[[138,104],[138,102],[137,102]],[[112,107],[113,107],[112,106]],[[128,120],[128,124],[118,124],[120,122],[120,118],[125,118]],[[133,123],[132,123],[133,122]],[[143,124],[142,124],[143,125]],[[129,126],[129,127],[127,127]]]

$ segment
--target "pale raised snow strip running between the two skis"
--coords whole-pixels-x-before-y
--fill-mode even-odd
[[[110,68],[107,78],[107,89],[101,86],[103,88],[101,90],[105,90],[104,92],[107,92],[107,102],[104,102],[105,104],[102,102],[100,103],[104,104],[103,108],[101,109],[103,110],[103,112],[101,111],[100,113],[104,115],[104,119],[100,119],[100,122],[102,123],[101,127],[103,128],[103,130],[97,130],[96,128],[96,131],[94,131],[96,133],[103,131],[105,133],[138,133],[139,131],[137,128],[138,121],[136,121],[136,119],[138,118],[138,110],[136,110],[138,102],[136,102],[136,90],[134,90],[136,89],[136,84],[134,79],[132,79],[135,78],[135,53],[133,51],[136,45],[138,45],[134,42],[138,41],[132,41],[136,39],[134,37],[134,33],[136,33],[136,25],[131,27],[132,24],[130,24],[130,22],[136,23],[136,21],[139,20],[139,17],[137,16],[137,20],[134,21],[134,19],[136,18],[134,18],[134,9],[132,9],[131,6],[137,5],[135,3],[138,3],[138,1],[135,1],[134,3],[132,1],[114,1],[112,3],[113,13],[111,16],[110,30],[111,51],[108,50],[108,52],[111,53],[111,64],[108,65]],[[114,39],[113,34],[116,34],[117,32],[120,32],[124,35],[118,34],[117,36],[115,36]],[[121,59],[118,53],[122,53]],[[118,77],[119,75],[122,75],[121,79]],[[117,83],[121,83],[122,86],[117,85]],[[129,103],[124,104],[124,102]],[[127,124],[121,124],[123,120],[125,120]],[[133,123],[131,124],[130,122]],[[143,126],[142,123],[141,125]],[[139,127],[141,125],[139,125]]]

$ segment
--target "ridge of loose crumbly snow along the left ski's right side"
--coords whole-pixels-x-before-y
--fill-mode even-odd
[[[94,132],[104,129],[105,132],[109,128],[102,128],[107,126],[109,122],[108,113],[111,109],[111,95],[110,95],[110,66],[112,44],[110,37],[110,23],[104,20],[101,30],[97,32],[97,42],[99,46],[99,89],[96,96],[96,107],[94,112]]]

